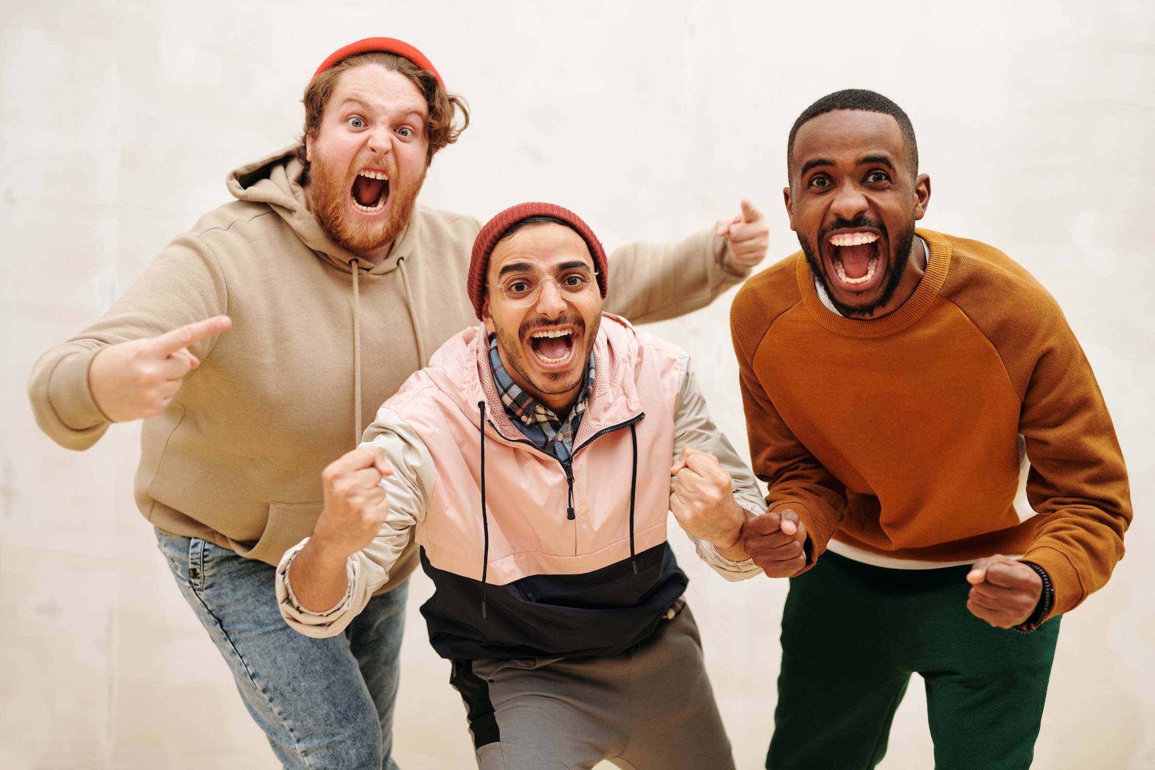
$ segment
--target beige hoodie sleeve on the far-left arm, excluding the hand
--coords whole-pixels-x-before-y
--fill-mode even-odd
[[[195,236],[177,238],[99,321],[49,350],[32,367],[28,396],[37,425],[66,449],[88,449],[110,425],[88,387],[96,354],[228,309],[224,275],[209,246]],[[217,339],[193,345],[192,353],[203,362]]]

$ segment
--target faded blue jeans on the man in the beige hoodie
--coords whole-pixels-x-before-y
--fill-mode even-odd
[[[161,553],[286,770],[397,770],[392,758],[409,584],[370,599],[344,634],[289,628],[275,569],[199,538],[157,531]]]

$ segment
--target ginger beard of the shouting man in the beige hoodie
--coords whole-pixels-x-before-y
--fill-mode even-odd
[[[389,200],[386,207],[389,215],[379,223],[352,220],[348,216],[345,202],[352,195],[352,174],[343,174],[318,158],[310,164],[308,189],[313,202],[313,216],[321,229],[337,246],[353,254],[366,254],[392,244],[409,224],[409,217],[417,204],[417,194],[425,182],[426,165],[422,175],[409,181],[397,172],[397,164],[392,155],[381,159],[389,175]]]

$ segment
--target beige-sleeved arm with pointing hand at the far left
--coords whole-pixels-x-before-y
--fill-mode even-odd
[[[36,362],[28,396],[37,425],[80,450],[111,423],[161,413],[231,324],[226,312],[216,260],[181,236],[99,321]]]

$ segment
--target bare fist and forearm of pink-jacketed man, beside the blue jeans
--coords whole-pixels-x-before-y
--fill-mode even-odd
[[[385,453],[353,449],[321,472],[325,509],[289,568],[289,583],[306,610],[325,612],[345,595],[345,562],[377,537],[389,515],[381,479],[393,476]]]

